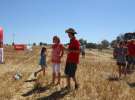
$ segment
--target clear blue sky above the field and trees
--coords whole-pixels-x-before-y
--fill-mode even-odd
[[[78,39],[99,43],[135,31],[135,0],[0,0],[4,42],[52,43],[74,28]]]

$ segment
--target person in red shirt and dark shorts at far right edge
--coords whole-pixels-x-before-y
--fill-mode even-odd
[[[135,40],[128,41],[128,67],[134,68],[135,66]]]

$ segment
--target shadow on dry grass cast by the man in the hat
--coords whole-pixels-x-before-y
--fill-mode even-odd
[[[37,100],[59,100],[64,98],[70,91],[66,88],[61,89],[60,91],[56,91],[49,96],[38,98]]]

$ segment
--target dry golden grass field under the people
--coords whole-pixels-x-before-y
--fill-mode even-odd
[[[86,57],[80,56],[77,79],[80,87],[67,91],[64,89],[66,54],[62,59],[60,86],[51,86],[51,52],[47,54],[46,76],[38,76],[34,81],[33,72],[38,66],[40,47],[33,47],[32,52],[15,51],[5,47],[5,64],[0,65],[0,100],[135,100],[135,74],[128,74],[117,80],[117,66],[111,53],[96,50],[86,52]],[[14,80],[16,72],[22,74],[22,79]],[[39,87],[40,86],[40,87]]]

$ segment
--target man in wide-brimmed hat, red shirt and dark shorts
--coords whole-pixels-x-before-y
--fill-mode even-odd
[[[77,64],[79,63],[80,43],[75,37],[76,32],[73,28],[69,28],[65,32],[68,33],[68,36],[70,38],[70,43],[67,49],[68,54],[65,67],[65,74],[67,76],[66,88],[70,88],[70,80],[72,78],[75,82],[75,89],[78,89],[78,83],[76,80],[75,73],[77,70]]]

